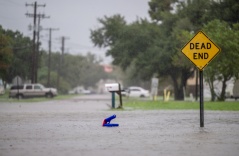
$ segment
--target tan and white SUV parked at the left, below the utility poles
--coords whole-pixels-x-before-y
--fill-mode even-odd
[[[41,84],[14,85],[10,88],[9,98],[25,97],[47,97],[52,98],[57,95],[57,89],[45,88]]]

